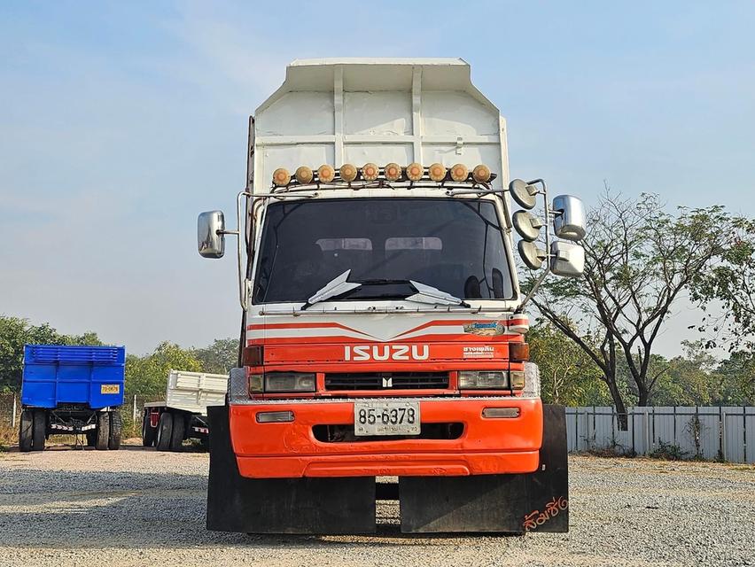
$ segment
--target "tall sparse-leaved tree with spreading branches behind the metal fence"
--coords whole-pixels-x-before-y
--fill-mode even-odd
[[[658,332],[690,282],[731,247],[735,221],[720,206],[681,207],[674,216],[658,196],[632,200],[606,190],[588,214],[584,277],[551,279],[533,298],[541,315],[601,369],[622,426],[627,404],[619,360],[637,403],[647,405],[661,377],[650,365]]]

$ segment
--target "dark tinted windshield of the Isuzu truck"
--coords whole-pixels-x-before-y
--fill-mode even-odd
[[[502,227],[482,199],[274,203],[257,262],[254,303],[307,301],[348,269],[350,282],[365,282],[348,299],[405,298],[416,292],[401,284],[409,280],[463,299],[514,295]]]

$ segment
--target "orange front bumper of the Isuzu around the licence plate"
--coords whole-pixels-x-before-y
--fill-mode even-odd
[[[402,399],[408,400],[408,399]],[[538,468],[541,400],[420,400],[422,423],[463,423],[459,439],[386,439],[326,443],[315,425],[354,423],[350,400],[292,400],[230,406],[230,439],[247,478],[467,476]],[[515,418],[482,417],[484,408],[519,408]],[[261,411],[292,411],[291,423],[257,423]]]

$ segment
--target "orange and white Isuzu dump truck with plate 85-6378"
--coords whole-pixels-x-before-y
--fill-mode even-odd
[[[381,499],[402,532],[568,529],[564,408],[524,308],[580,276],[584,209],[510,180],[506,136],[462,59],[286,68],[249,120],[236,227],[198,218],[203,257],[237,237],[242,313],[208,529],[370,533]]]

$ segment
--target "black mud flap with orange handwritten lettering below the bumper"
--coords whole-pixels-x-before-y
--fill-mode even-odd
[[[399,478],[401,532],[568,532],[563,406],[543,406],[540,468],[531,474]]]

